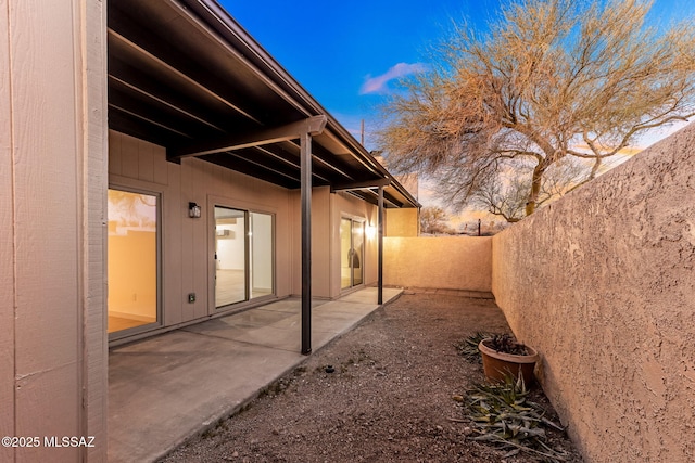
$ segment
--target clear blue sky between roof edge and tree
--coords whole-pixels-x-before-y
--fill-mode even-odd
[[[394,79],[421,68],[452,18],[484,27],[505,0],[218,0],[357,140]],[[659,22],[695,16],[694,0],[656,0]]]

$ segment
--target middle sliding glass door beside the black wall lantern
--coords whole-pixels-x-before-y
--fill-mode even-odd
[[[215,206],[215,307],[274,294],[273,216]]]

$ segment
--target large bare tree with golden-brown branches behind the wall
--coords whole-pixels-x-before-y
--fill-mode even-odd
[[[459,205],[501,194],[501,171],[523,166],[510,180],[523,215],[559,160],[587,159],[579,183],[593,179],[635,136],[695,115],[695,23],[649,27],[652,3],[516,0],[486,35],[455,26],[384,108],[390,166]]]

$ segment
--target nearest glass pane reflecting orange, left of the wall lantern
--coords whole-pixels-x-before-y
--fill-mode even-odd
[[[131,333],[159,322],[159,196],[110,189],[108,218],[108,331]]]

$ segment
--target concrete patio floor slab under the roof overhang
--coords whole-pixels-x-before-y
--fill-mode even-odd
[[[384,288],[384,304],[402,290]],[[314,351],[379,307],[377,288],[315,300]],[[283,299],[116,347],[109,355],[109,461],[148,462],[239,410],[307,357],[301,300]]]

